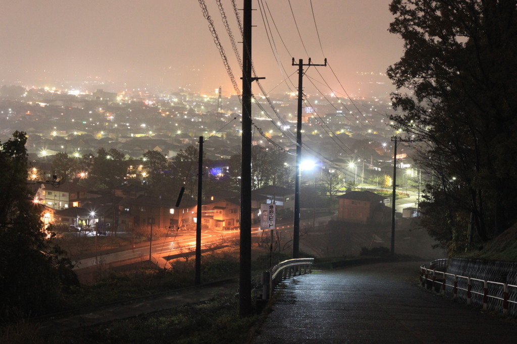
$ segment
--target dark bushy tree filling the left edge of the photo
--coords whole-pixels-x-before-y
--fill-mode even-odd
[[[26,135],[0,144],[0,290],[2,317],[58,310],[63,292],[77,283],[72,264],[43,231],[41,210],[27,184]]]

